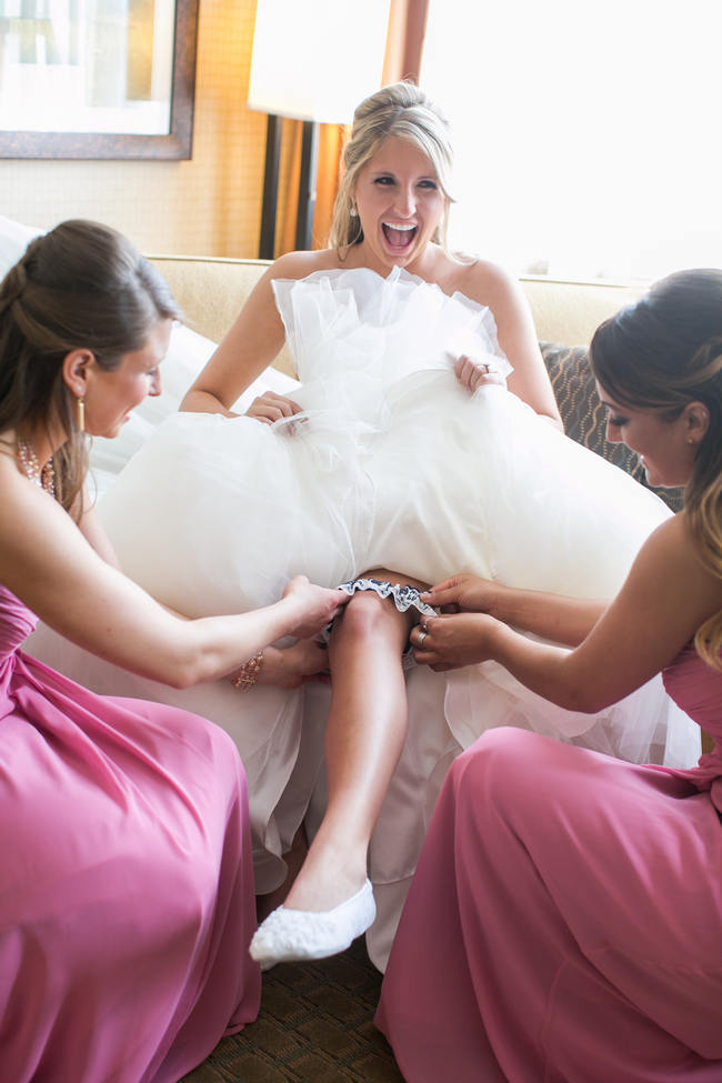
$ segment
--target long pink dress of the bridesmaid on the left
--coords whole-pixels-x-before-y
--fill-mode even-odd
[[[0,586],[0,1077],[177,1083],[258,1011],[241,763],[28,658],[33,625]]]

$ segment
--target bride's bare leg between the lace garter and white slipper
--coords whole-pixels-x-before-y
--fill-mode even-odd
[[[410,583],[395,572],[374,579]],[[415,610],[358,592],[337,619],[329,644],[331,706],[325,733],[327,812],[284,902],[328,911],[353,895],[367,876],[367,852],[407,732],[401,655]]]

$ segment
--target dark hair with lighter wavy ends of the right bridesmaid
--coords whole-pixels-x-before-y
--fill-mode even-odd
[[[722,271],[678,271],[594,332],[592,370],[622,407],[668,421],[702,402],[710,425],[684,490],[684,514],[705,566],[722,579]],[[722,669],[722,612],[695,636],[704,660]]]

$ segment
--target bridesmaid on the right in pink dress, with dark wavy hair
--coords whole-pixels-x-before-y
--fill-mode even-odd
[[[609,438],[685,510],[589,634],[589,609],[460,575],[417,659],[590,711],[661,671],[714,751],[639,766],[498,729],[459,758],[377,1014],[410,1083],[722,1080],[722,271],[664,279],[591,353]]]

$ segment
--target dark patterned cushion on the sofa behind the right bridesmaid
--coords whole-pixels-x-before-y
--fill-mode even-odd
[[[621,467],[641,484],[651,488],[646,485],[644,470],[636,454],[624,444],[610,443],[605,439],[606,411],[596,394],[586,347],[559,345],[555,342],[540,342],[539,347],[552,381],[566,435]],[[654,492],[673,511],[681,510],[681,489],[654,489]]]

